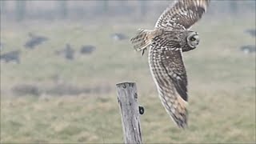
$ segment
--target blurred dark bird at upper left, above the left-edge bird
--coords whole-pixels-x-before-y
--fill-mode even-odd
[[[27,49],[34,49],[35,46],[38,46],[42,44],[42,42],[46,42],[48,40],[48,38],[46,37],[37,36],[32,33],[29,33],[29,36],[30,36],[30,40],[27,41],[24,45]]]

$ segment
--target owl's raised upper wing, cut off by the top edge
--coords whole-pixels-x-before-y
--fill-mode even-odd
[[[210,0],[176,0],[158,18],[155,27],[188,30],[206,13]]]

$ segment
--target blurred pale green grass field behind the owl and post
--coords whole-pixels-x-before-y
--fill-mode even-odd
[[[200,34],[196,50],[184,53],[189,78],[189,127],[179,130],[158,99],[147,56],[134,52],[129,39],[114,41],[110,34],[133,36],[154,22],[2,22],[5,49],[22,50],[21,64],[1,62],[1,143],[121,143],[122,123],[115,84],[136,82],[144,143],[255,143],[255,54],[240,46],[254,44],[244,30],[255,28],[254,18],[204,18],[192,30]],[[206,25],[207,23],[207,25]],[[26,28],[24,28],[26,27]],[[27,34],[50,41],[27,50]],[[74,49],[90,44],[90,55],[74,61],[54,50],[70,43]],[[75,86],[110,86],[106,94],[14,96],[12,86],[30,83],[54,86],[53,75]]]

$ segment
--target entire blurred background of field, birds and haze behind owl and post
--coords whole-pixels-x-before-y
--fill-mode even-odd
[[[212,1],[191,29],[186,130],[130,44],[173,1],[0,2],[1,143],[123,142],[118,82],[137,83],[144,143],[255,142],[254,0]]]

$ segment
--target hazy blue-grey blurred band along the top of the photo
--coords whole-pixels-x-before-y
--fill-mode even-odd
[[[30,8],[33,7],[31,5],[33,1],[26,1],[26,0],[15,0],[15,1],[1,1],[1,14],[2,16],[6,15],[6,18],[13,18],[17,21],[22,21],[28,15],[33,15],[30,12]],[[36,1],[34,1],[36,2]],[[47,7],[47,2],[45,1],[45,6]],[[72,13],[76,11],[75,14],[84,17],[86,15],[115,15],[115,14],[136,14],[139,17],[144,17],[152,13],[152,11],[158,8],[158,5],[164,4],[169,5],[170,1],[149,1],[149,0],[137,0],[137,1],[129,1],[129,0],[122,0],[122,1],[113,1],[113,0],[102,0],[102,1],[83,1],[84,3],[94,3],[93,7],[90,6],[80,6],[71,8],[70,4],[74,4],[78,1],[54,1],[54,7],[51,11],[50,9],[42,10],[38,16],[34,16],[34,18],[42,18],[40,16],[45,15],[44,18],[47,16],[54,17],[54,18],[70,18],[72,17]],[[81,2],[81,1],[80,1]],[[238,14],[242,10],[254,10],[255,12],[255,1],[237,1],[237,0],[230,0],[230,1],[212,1],[213,6],[210,10],[219,11],[219,10],[226,10],[226,13],[229,14]],[[161,10],[163,6],[160,6]],[[48,11],[48,12],[47,12]],[[50,11],[50,12],[49,12]],[[37,12],[35,12],[36,14]]]

